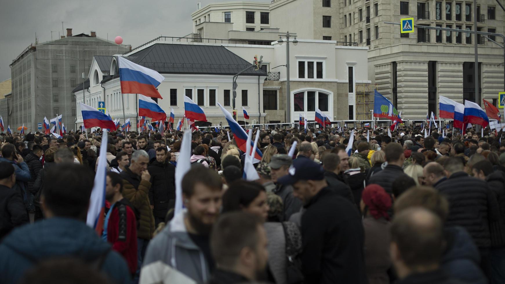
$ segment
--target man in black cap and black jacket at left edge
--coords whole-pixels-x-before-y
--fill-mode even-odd
[[[23,197],[12,187],[16,184],[14,166],[0,162],[0,241],[16,226],[28,223]]]

